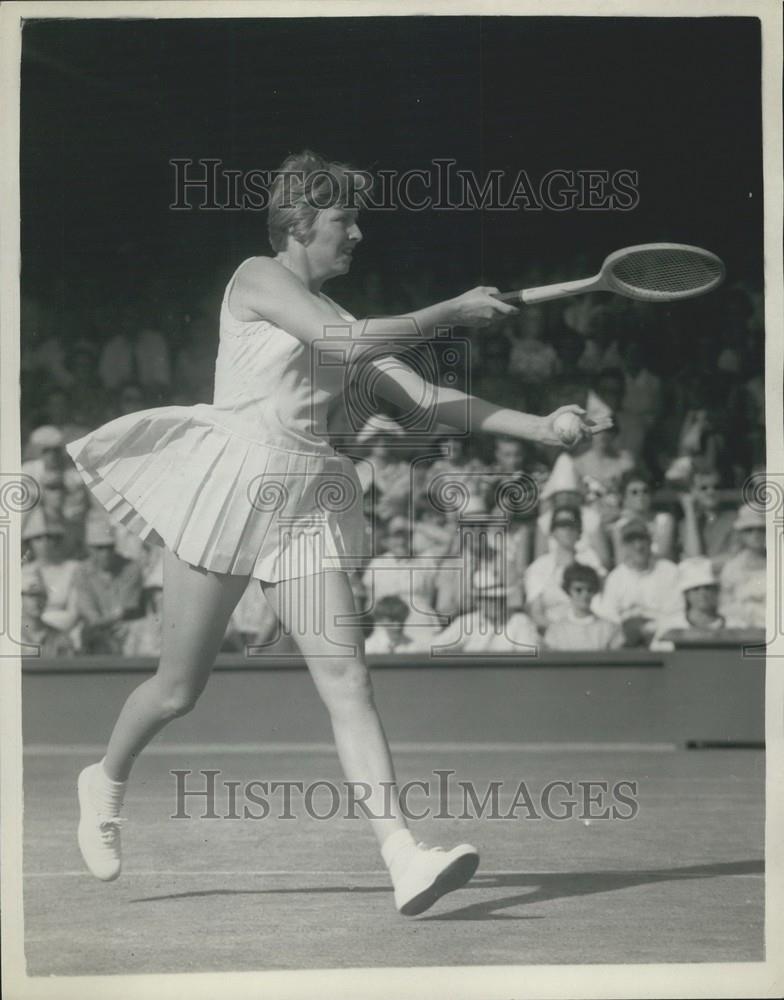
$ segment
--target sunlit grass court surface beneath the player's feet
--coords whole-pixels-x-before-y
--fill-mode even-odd
[[[468,886],[421,917],[395,912],[367,821],[305,815],[201,819],[204,797],[177,811],[174,770],[205,788],[219,770],[215,812],[231,811],[220,781],[323,779],[340,788],[326,746],[191,747],[153,744],[128,795],[124,870],[100,883],[84,869],[75,828],[76,775],[88,748],[28,746],[25,754],[25,948],[33,976],[388,966],[748,962],[764,958],[764,755],[759,750],[680,749],[666,744],[393,746],[401,785],[454,771],[448,805],[465,809],[459,781],[481,800],[499,786],[508,812],[521,782],[530,793],[516,819],[413,823],[431,843],[467,840],[482,861]],[[637,782],[628,820],[542,816],[548,782]],[[575,791],[577,791],[575,789]],[[564,789],[554,813],[568,811]],[[332,804],[313,794],[312,811]],[[412,813],[443,802],[411,791]],[[599,802],[591,807],[599,814]],[[470,809],[470,801],[469,801]],[[486,810],[487,811],[487,810]],[[628,812],[624,809],[624,812]],[[476,812],[476,810],[474,810]],[[189,944],[190,942],[190,944]]]

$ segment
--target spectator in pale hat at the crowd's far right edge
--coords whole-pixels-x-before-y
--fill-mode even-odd
[[[734,527],[740,551],[722,568],[719,609],[738,628],[765,628],[765,515],[744,504]]]

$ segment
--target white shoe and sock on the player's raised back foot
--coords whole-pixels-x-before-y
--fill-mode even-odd
[[[110,781],[102,764],[91,764],[79,775],[79,850],[96,878],[112,882],[122,870],[120,825],[124,783]]]

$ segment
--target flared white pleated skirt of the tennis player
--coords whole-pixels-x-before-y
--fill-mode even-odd
[[[274,583],[364,556],[362,488],[326,444],[291,450],[218,422],[207,405],[112,420],[67,445],[115,522],[180,559]]]

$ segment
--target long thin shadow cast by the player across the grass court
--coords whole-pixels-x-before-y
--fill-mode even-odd
[[[529,920],[530,917],[500,914],[499,910],[514,906],[543,903],[554,899],[589,896],[593,893],[618,892],[641,885],[671,882],[683,879],[724,878],[730,875],[761,875],[765,866],[761,860],[727,861],[686,868],[660,868],[649,871],[626,872],[565,872],[528,874],[509,872],[501,875],[477,875],[461,890],[525,889],[511,896],[470,903],[449,913],[431,914],[423,920]],[[379,873],[381,874],[381,873]],[[161,903],[181,899],[210,896],[277,896],[277,895],[345,895],[347,893],[390,893],[387,886],[297,886],[292,889],[206,889],[198,892],[167,893],[160,896],[143,896],[130,899],[129,903]],[[459,897],[448,897],[457,900]]]

